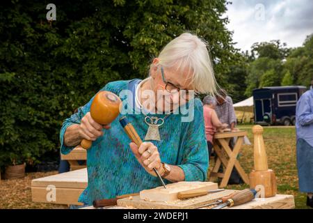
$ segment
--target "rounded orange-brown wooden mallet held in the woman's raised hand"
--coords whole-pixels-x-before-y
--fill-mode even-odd
[[[110,91],[100,91],[95,95],[90,106],[90,116],[101,125],[109,125],[120,114],[121,100]],[[90,148],[92,141],[81,140],[81,147]]]

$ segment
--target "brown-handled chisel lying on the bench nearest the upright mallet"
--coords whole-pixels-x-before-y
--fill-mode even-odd
[[[246,189],[241,192],[238,192],[234,194],[234,196],[230,199],[227,199],[225,203],[220,204],[219,206],[216,206],[211,209],[221,209],[225,207],[232,207],[232,206],[238,206],[243,203],[247,203],[249,201],[252,201],[255,198],[255,194],[257,194],[257,191],[254,189]]]

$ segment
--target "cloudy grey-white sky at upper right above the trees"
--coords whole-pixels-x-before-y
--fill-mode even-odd
[[[281,40],[298,47],[313,33],[313,0],[230,0],[225,14],[234,31],[237,48],[250,50],[253,43]]]

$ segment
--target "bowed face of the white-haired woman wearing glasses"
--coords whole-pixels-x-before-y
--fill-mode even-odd
[[[154,66],[150,70],[153,80],[152,91],[156,95],[157,109],[162,110],[162,112],[174,111],[194,97],[194,95],[191,97],[192,91],[188,91],[193,90],[193,83],[191,82],[193,74],[189,69],[163,67],[163,79],[161,66],[158,63],[159,59],[154,59]]]

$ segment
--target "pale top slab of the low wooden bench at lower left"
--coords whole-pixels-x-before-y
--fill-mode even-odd
[[[61,188],[85,189],[88,185],[87,169],[79,169],[31,180],[31,187],[47,187],[55,185]]]

